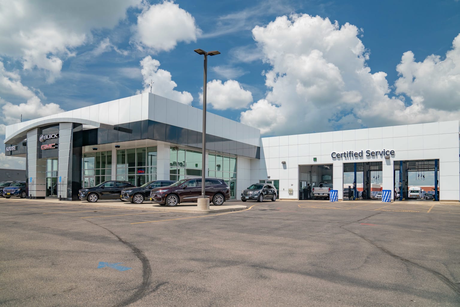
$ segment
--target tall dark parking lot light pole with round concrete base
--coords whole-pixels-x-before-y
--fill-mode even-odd
[[[201,197],[198,199],[198,209],[209,209],[209,199],[206,197],[205,192],[205,178],[206,178],[206,87],[207,87],[207,56],[220,54],[219,51],[206,52],[203,49],[195,49],[198,54],[204,55],[204,73],[203,73],[203,136],[201,151]]]

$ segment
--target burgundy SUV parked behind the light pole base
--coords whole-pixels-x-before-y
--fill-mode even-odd
[[[230,187],[222,179],[206,178],[205,193],[214,205],[220,206],[230,199]],[[155,188],[150,192],[150,201],[175,207],[179,203],[197,202],[201,196],[201,178],[179,180],[170,186]]]

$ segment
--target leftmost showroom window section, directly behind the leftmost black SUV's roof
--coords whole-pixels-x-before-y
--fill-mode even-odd
[[[112,151],[87,152],[83,154],[84,188],[110,180],[112,176]]]

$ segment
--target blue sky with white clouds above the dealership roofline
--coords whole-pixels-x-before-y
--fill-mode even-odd
[[[5,125],[149,90],[263,136],[460,115],[460,2],[0,0]],[[0,153],[4,166],[17,159]]]

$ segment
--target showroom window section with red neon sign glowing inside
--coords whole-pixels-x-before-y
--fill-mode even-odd
[[[136,186],[156,180],[156,159],[156,146],[117,150],[116,180]]]

